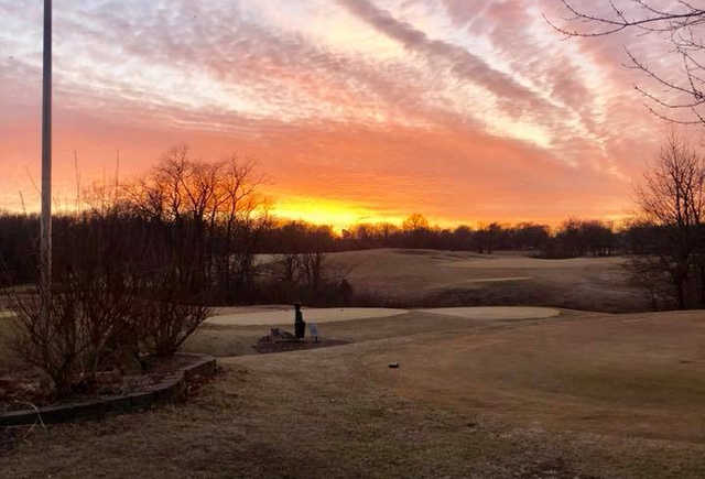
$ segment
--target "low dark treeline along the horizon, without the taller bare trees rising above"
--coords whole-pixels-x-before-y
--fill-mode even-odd
[[[356,225],[336,233],[329,226],[304,221],[276,221],[251,213],[239,218],[208,219],[182,216],[156,219],[142,207],[123,203],[109,213],[97,210],[55,216],[53,238],[55,261],[74,257],[76,236],[98,222],[112,224],[112,254],[120,253],[118,244],[142,254],[149,242],[151,248],[171,250],[187,243],[186,251],[208,257],[209,268],[220,271],[227,287],[232,281],[247,282],[253,274],[253,254],[327,253],[372,248],[436,249],[475,251],[491,254],[502,250],[521,250],[541,258],[605,257],[617,253],[642,252],[648,235],[643,226],[615,231],[610,224],[598,220],[566,220],[554,231],[546,225],[522,222],[514,226],[492,222],[480,228],[430,227],[421,215],[412,215],[402,226],[393,224]],[[83,231],[83,232],[82,232]],[[192,236],[199,238],[191,238]],[[31,282],[37,271],[39,217],[24,214],[0,214],[0,260],[6,277],[14,283]],[[192,244],[194,243],[194,244]],[[203,249],[204,252],[199,253]],[[227,264],[226,264],[227,263]],[[61,270],[61,269],[59,269]],[[241,284],[238,284],[241,286]]]

